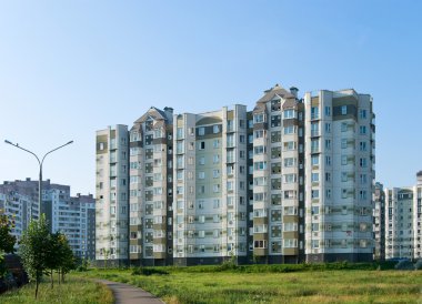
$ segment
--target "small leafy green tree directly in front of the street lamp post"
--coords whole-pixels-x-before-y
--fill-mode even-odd
[[[50,251],[50,232],[46,216],[42,214],[39,221],[31,221],[27,231],[23,232],[20,241],[20,256],[23,267],[31,280],[36,281],[36,298],[38,287],[48,268],[48,259]]]

